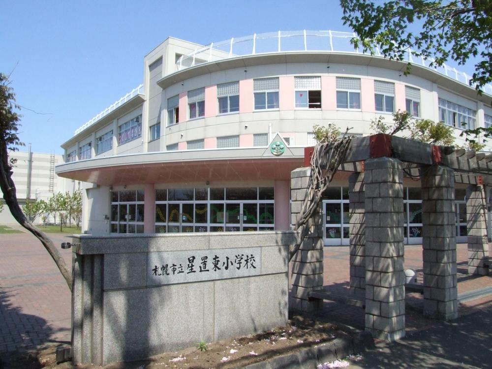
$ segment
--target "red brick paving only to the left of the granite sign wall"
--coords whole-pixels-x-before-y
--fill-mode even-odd
[[[59,250],[71,267],[71,250]],[[69,341],[70,291],[55,263],[31,234],[0,235],[0,354]]]

